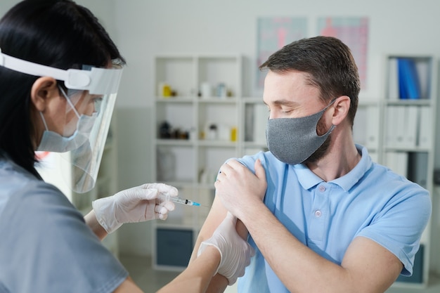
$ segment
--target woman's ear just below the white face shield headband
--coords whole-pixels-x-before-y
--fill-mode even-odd
[[[51,98],[59,95],[56,79],[53,77],[39,77],[32,84],[30,96],[32,103],[39,112],[43,112],[46,109],[47,103]]]

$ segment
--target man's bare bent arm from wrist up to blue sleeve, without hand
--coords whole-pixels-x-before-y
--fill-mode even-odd
[[[373,240],[356,237],[342,264],[328,261],[290,233],[264,204],[242,221],[264,259],[290,292],[384,292],[399,275],[399,259]]]

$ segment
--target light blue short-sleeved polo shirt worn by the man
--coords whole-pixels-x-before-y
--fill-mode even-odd
[[[239,160],[254,171],[254,162],[261,159],[268,185],[264,203],[313,252],[340,265],[350,243],[363,236],[396,255],[404,266],[401,274],[411,275],[431,215],[429,193],[373,162],[366,148],[356,148],[362,155],[360,162],[348,174],[329,182],[304,164],[280,162],[271,152]],[[252,237],[249,242],[257,254],[239,279],[238,292],[288,292]]]

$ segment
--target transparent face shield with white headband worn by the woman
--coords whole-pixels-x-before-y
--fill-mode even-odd
[[[96,183],[108,137],[122,66],[115,62],[110,68],[83,66],[81,70],[60,70],[7,56],[1,51],[0,65],[64,82],[65,87],[59,88],[65,106],[60,108],[59,115],[48,121],[41,114],[46,127],[43,138],[48,136],[41,150],[60,152],[60,156],[72,165],[72,171],[63,174],[72,190],[77,193],[91,190]],[[51,145],[52,142],[55,143]]]

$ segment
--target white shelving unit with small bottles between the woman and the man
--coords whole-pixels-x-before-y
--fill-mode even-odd
[[[179,196],[206,206],[178,205],[167,221],[153,223],[153,268],[181,271],[214,200],[221,164],[266,147],[265,140],[253,143],[254,134],[245,134],[253,131],[245,124],[254,123],[252,108],[262,100],[243,96],[239,54],[160,55],[154,70],[153,177],[176,186]],[[264,126],[267,115],[266,110]],[[164,122],[168,128],[161,127]],[[176,235],[186,241],[177,242]]]

